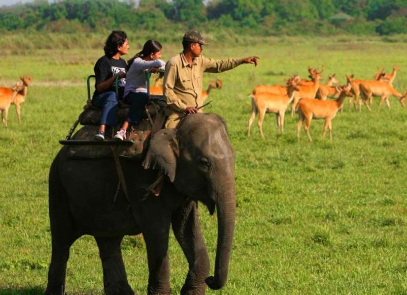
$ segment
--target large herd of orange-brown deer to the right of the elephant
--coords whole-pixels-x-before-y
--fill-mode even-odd
[[[332,140],[332,119],[335,118],[339,110],[343,111],[346,97],[349,97],[348,109],[352,100],[355,109],[357,102],[359,102],[359,112],[363,104],[369,111],[372,110],[373,96],[380,97],[379,108],[383,101],[386,101],[387,107],[390,109],[389,96],[396,97],[404,107],[407,90],[401,94],[393,88],[394,78],[400,68],[395,65],[391,74],[386,74],[381,67],[377,68],[380,73],[374,75],[374,80],[357,80],[354,79],[353,75],[345,75],[347,84],[343,86],[333,86],[333,84],[339,83],[335,74],[329,75],[327,84],[320,84],[321,73],[325,69],[323,66],[321,71],[318,68],[308,67],[308,77],[311,80],[300,79],[298,75],[294,75],[285,79],[286,85],[259,85],[255,87],[252,94],[249,95],[252,100],[252,112],[249,118],[247,136],[250,136],[250,127],[257,114],[259,115],[257,125],[263,139],[262,124],[266,113],[276,115],[277,126],[280,132],[283,132],[284,114],[291,102],[293,102],[291,115],[294,116],[297,112],[299,116],[297,137],[300,138],[301,127],[305,121],[304,129],[310,142],[312,142],[312,138],[309,134],[309,127],[313,118],[325,119],[322,136],[325,137],[328,128]],[[334,100],[327,100],[327,97]]]

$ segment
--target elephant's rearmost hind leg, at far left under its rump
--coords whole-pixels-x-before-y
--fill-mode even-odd
[[[64,295],[69,248],[80,235],[75,231],[66,193],[52,174],[49,181],[49,218],[52,256],[45,294]]]

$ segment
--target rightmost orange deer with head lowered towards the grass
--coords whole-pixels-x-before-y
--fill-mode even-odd
[[[359,84],[359,90],[361,93],[361,98],[365,102],[369,110],[371,109],[369,108],[367,102],[369,102],[370,106],[372,107],[373,96],[380,96],[379,109],[383,104],[383,101],[386,101],[387,107],[390,109],[389,102],[390,95],[393,95],[397,99],[399,99],[399,102],[402,105],[402,107],[405,107],[407,90],[403,94],[401,94],[396,89],[394,89],[393,86],[388,82],[382,82],[377,80],[363,81]],[[359,105],[361,104],[362,102],[359,101]]]

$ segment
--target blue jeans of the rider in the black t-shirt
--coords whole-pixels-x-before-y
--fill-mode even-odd
[[[119,101],[116,92],[103,92],[92,99],[95,107],[102,108],[101,125],[116,126]]]

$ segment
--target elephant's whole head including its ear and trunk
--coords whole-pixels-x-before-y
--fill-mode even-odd
[[[177,129],[162,129],[150,142],[144,167],[160,168],[183,194],[203,202],[218,216],[215,274],[211,289],[227,280],[235,229],[234,151],[224,121],[214,114],[188,115]]]

